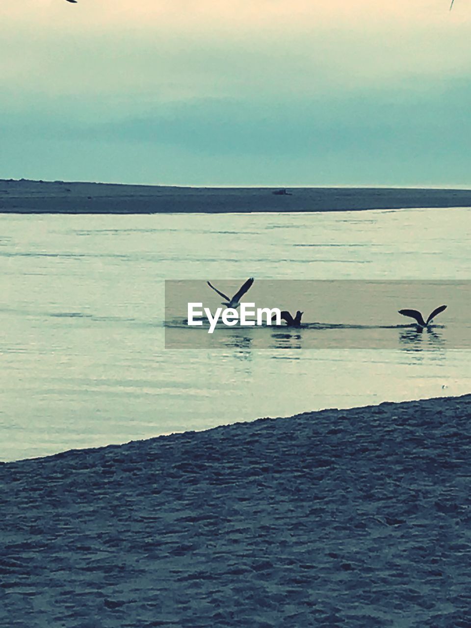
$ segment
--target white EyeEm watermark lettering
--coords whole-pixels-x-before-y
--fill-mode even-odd
[[[198,310],[196,308],[199,308]],[[214,316],[209,308],[203,308],[203,303],[188,303],[188,325],[201,327],[203,312],[209,322],[208,333],[213,333],[219,319],[227,327],[241,325],[241,327],[254,327],[255,325],[281,325],[281,310],[279,308],[255,308],[255,303],[241,303],[241,312],[235,308],[217,308]]]

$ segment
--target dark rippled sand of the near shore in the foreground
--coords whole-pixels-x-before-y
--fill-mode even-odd
[[[0,465],[0,625],[471,622],[471,395]]]

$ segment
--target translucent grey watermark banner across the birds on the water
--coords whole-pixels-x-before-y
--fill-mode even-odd
[[[471,281],[168,279],[166,349],[471,349]]]

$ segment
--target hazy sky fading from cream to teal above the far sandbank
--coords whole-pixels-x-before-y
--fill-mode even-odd
[[[0,178],[471,186],[471,0],[1,0]]]

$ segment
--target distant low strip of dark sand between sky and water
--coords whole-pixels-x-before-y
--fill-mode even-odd
[[[274,195],[275,189],[0,180],[0,213],[217,214],[471,207],[471,190],[288,188],[290,194]]]

